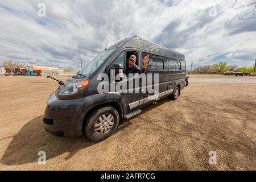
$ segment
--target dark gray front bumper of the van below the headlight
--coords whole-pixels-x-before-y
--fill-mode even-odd
[[[59,100],[53,93],[44,111],[44,128],[56,136],[79,137],[84,116],[90,108],[86,98]]]

